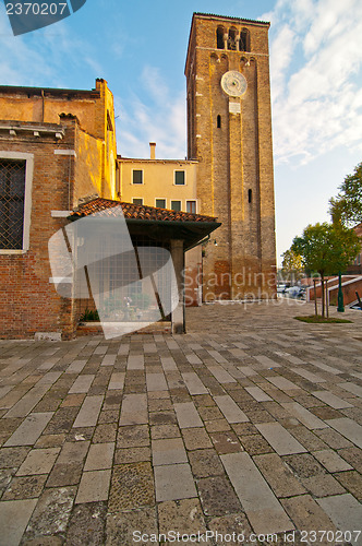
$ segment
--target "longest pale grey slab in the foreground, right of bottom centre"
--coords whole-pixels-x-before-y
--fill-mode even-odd
[[[255,533],[294,529],[248,453],[230,453],[220,459]]]

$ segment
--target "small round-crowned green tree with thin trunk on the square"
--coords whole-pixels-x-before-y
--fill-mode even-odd
[[[360,252],[361,241],[353,229],[341,224],[315,224],[305,227],[301,237],[294,237],[290,250],[302,257],[304,268],[317,271],[322,284],[322,316],[325,316],[326,275],[345,271]]]

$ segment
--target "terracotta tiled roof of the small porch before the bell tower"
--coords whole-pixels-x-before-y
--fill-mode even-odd
[[[123,201],[112,201],[110,199],[97,198],[88,203],[81,204],[72,214],[72,218],[89,216],[94,213],[104,212],[104,215],[111,217],[112,209],[122,206],[125,219],[145,219],[161,222],[217,222],[213,216],[202,214],[192,214],[189,212],[169,211],[167,209],[157,209],[155,206],[137,205],[124,203]]]

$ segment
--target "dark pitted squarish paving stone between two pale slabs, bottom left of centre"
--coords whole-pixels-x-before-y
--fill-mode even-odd
[[[167,466],[158,466],[155,468],[155,473],[162,468],[167,468]],[[173,480],[174,476],[170,479]],[[113,466],[108,501],[109,512],[134,510],[154,506],[154,476],[150,463],[141,462]]]

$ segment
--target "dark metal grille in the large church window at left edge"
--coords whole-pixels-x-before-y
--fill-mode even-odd
[[[0,158],[0,248],[23,248],[25,162]]]

